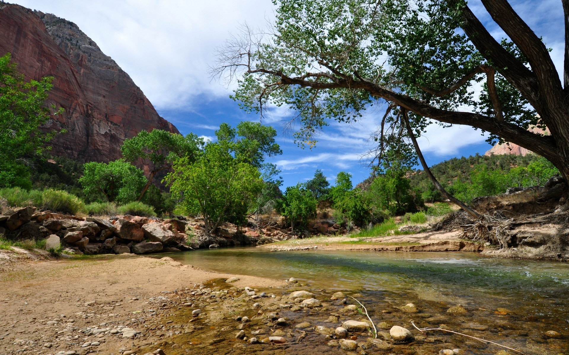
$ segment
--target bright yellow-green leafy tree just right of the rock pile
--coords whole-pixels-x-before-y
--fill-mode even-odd
[[[165,180],[171,184],[171,193],[181,199],[178,207],[185,214],[203,215],[208,235],[228,218],[242,223],[263,188],[258,168],[234,158],[226,141],[208,143],[195,162],[183,157],[173,169]]]

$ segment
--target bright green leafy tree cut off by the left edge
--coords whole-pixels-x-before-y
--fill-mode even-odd
[[[52,77],[26,82],[10,59],[10,53],[0,57],[0,187],[30,189],[25,163],[30,156],[50,149],[44,145],[57,133],[43,132],[40,126],[63,109],[44,105],[53,88]]]

